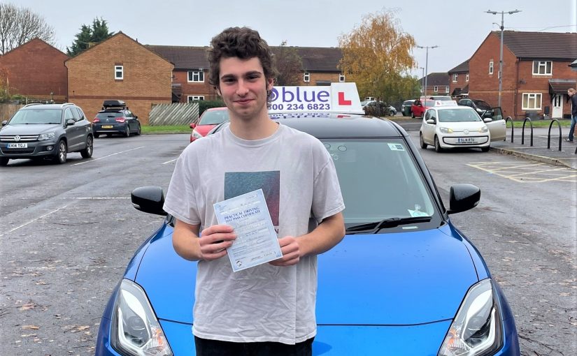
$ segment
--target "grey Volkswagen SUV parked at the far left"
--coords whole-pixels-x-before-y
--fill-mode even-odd
[[[0,128],[0,165],[10,159],[44,158],[65,163],[66,154],[92,156],[92,124],[73,103],[28,104]]]

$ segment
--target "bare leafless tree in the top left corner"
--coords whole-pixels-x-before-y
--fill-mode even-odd
[[[29,8],[0,3],[0,54],[5,54],[36,37],[54,45],[54,29],[43,17]]]

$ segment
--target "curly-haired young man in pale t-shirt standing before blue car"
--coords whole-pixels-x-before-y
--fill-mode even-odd
[[[164,205],[176,218],[174,249],[199,261],[197,355],[312,355],[316,255],[345,235],[334,164],[319,140],[270,119],[275,70],[257,31],[225,29],[208,61],[230,125],[183,151]],[[213,204],[259,188],[283,258],[232,272],[226,249],[236,235]]]

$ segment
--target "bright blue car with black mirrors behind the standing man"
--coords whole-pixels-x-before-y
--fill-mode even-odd
[[[318,256],[314,355],[520,355],[503,292],[449,218],[475,207],[479,188],[455,184],[444,207],[418,149],[392,121],[275,119],[325,144],[346,204],[346,237]],[[136,188],[131,199],[166,215],[162,188]],[[102,316],[96,355],[194,355],[197,263],[176,254],[172,232],[166,216],[134,254]]]

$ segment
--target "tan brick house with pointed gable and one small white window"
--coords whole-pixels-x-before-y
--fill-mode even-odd
[[[64,62],[69,101],[92,119],[106,99],[127,103],[142,124],[152,104],[171,103],[173,64],[118,32]]]

